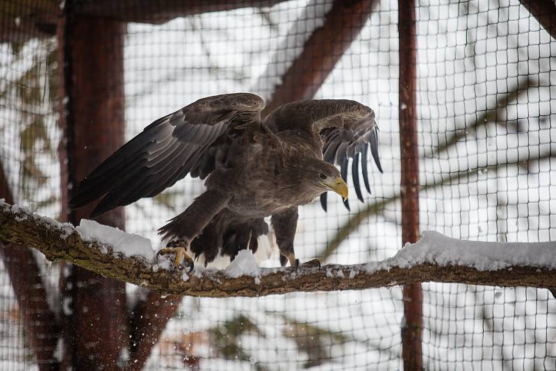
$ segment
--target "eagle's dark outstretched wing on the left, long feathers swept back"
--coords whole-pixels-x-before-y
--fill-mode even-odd
[[[264,101],[255,94],[222,94],[199,99],[157,119],[104,160],[79,183],[72,208],[104,196],[91,217],[141,197],[153,197],[188,172],[206,176],[208,148],[241,115],[260,119]],[[205,167],[202,169],[201,167]]]

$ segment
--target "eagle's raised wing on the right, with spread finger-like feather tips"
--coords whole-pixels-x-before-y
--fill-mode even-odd
[[[340,165],[341,175],[347,183],[347,167],[352,158],[352,179],[357,198],[363,201],[359,183],[359,160],[365,188],[370,192],[367,154],[373,155],[382,172],[378,156],[378,126],[375,112],[357,101],[322,99],[284,104],[265,119],[270,130],[297,130],[316,133],[322,140],[322,156],[329,163]],[[320,196],[322,208],[327,209],[326,193]],[[349,210],[350,204],[344,201]]]

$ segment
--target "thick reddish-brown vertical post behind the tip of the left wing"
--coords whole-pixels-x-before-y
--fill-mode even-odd
[[[66,7],[71,6],[72,1],[67,1]],[[126,25],[76,17],[70,8],[65,15],[64,32],[60,33],[66,94],[60,124],[67,140],[60,153],[60,158],[66,159],[62,195],[64,219],[79,224],[92,208],[67,209],[74,186],[124,143]],[[123,210],[106,213],[98,221],[123,229]],[[125,284],[70,264],[62,276],[62,368],[118,370],[122,348],[129,342]]]

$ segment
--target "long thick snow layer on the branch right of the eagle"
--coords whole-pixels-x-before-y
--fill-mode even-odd
[[[423,263],[443,267],[464,265],[481,271],[523,265],[556,269],[555,252],[556,242],[477,242],[424,231],[418,242],[406,244],[398,254],[385,261],[368,263],[367,270],[409,268]]]

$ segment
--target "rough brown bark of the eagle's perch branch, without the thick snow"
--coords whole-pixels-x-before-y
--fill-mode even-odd
[[[99,242],[86,242],[69,224],[0,204],[0,240],[35,247],[49,260],[69,261],[92,272],[134,283],[163,295],[197,297],[260,297],[295,291],[361,290],[415,282],[468,283],[488,286],[556,287],[556,269],[531,265],[500,270],[477,270],[464,265],[421,263],[368,270],[368,265],[323,265],[261,268],[258,278],[228,277],[224,271],[201,270],[189,274],[153,269],[140,256],[126,257]]]

